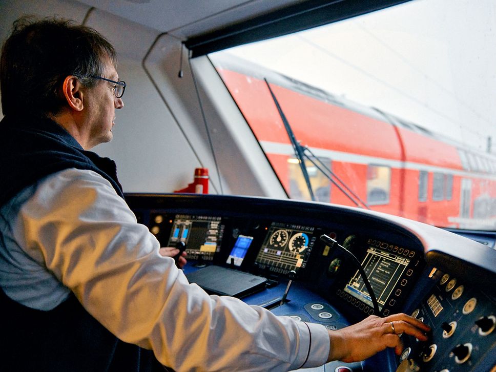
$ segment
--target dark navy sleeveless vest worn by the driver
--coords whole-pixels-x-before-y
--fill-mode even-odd
[[[0,205],[68,168],[97,172],[123,197],[115,163],[82,149],[56,122],[47,118],[0,122]],[[0,313],[2,371],[164,370],[150,350],[117,339],[73,294],[51,311],[38,311],[13,301],[0,288]]]

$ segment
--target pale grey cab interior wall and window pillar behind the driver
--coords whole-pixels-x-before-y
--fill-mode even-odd
[[[221,173],[218,176],[188,51],[181,49],[178,38],[71,0],[15,0],[2,3],[0,10],[2,43],[15,19],[33,14],[85,22],[114,45],[119,78],[128,83],[125,107],[116,111],[113,140],[94,151],[117,162],[125,192],[182,189],[193,181],[195,168],[206,167],[211,177],[210,193],[286,197],[214,67],[207,57],[201,57],[192,59],[191,66],[199,66],[195,77]],[[179,78],[181,52],[183,77]],[[205,84],[210,85],[209,93],[203,89]],[[219,114],[218,107],[227,107],[228,114]],[[238,125],[233,130],[234,122]],[[261,170],[257,168],[260,165]]]

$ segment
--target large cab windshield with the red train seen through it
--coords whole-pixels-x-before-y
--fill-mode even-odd
[[[210,58],[291,198],[494,230],[495,31],[418,0]]]

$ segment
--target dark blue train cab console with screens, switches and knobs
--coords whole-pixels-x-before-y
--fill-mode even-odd
[[[208,292],[239,284],[243,291],[234,295],[246,303],[331,330],[398,312],[432,328],[427,342],[401,336],[401,356],[385,350],[314,371],[496,371],[496,250],[487,245],[416,221],[321,203],[180,194],[126,200],[162,246],[186,244],[184,272]],[[323,242],[324,234],[361,262],[379,314],[354,260]],[[239,275],[225,279],[209,273],[212,267]]]

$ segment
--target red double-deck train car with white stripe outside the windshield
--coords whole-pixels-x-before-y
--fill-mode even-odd
[[[268,86],[296,139],[368,208],[437,226],[494,230],[494,155],[236,58],[213,56],[213,62],[292,198],[310,194]],[[356,204],[312,161],[305,164],[316,200]]]

